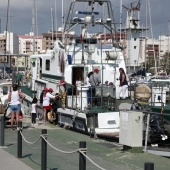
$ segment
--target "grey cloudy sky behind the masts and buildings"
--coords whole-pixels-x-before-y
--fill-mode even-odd
[[[34,0],[9,0],[10,1],[10,26],[9,30],[19,35],[28,34],[32,31],[32,7]],[[68,12],[69,4],[72,0],[64,1],[64,13],[65,16]],[[110,0],[114,10],[115,20],[118,23],[120,20],[120,0]],[[137,2],[138,0],[122,0],[125,6],[130,6],[131,2]],[[150,14],[152,21],[153,36],[168,35],[170,32],[170,0],[141,0],[141,25],[146,25],[146,1],[149,1]],[[51,30],[51,7],[55,6],[56,2],[56,23],[55,27],[61,27],[62,24],[62,0],[35,0],[37,9],[37,34],[48,32]],[[0,18],[1,18],[1,32],[6,30],[7,23],[7,3],[8,0],[0,0]],[[79,9],[83,10],[82,5]],[[147,12],[149,16],[149,12]],[[123,24],[125,24],[126,11],[122,12]],[[148,36],[151,36],[150,20],[148,20]],[[117,25],[117,28],[119,25]]]

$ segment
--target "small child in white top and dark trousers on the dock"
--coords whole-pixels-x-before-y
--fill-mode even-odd
[[[36,123],[36,117],[37,117],[37,101],[38,99],[36,97],[33,98],[32,100],[32,109],[31,109],[31,122],[32,122],[32,126],[36,126],[38,125]]]

